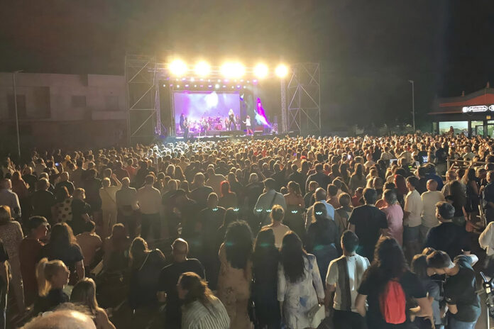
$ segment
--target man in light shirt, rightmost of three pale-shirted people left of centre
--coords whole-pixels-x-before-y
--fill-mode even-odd
[[[160,238],[161,234],[161,194],[153,187],[155,177],[151,174],[146,176],[144,186],[137,190],[137,201],[141,208],[141,237],[148,239],[149,231],[153,228],[153,237]]]

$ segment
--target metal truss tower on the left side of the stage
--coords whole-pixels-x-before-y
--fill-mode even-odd
[[[156,135],[161,135],[158,66],[152,56],[125,57],[129,145],[150,143]]]

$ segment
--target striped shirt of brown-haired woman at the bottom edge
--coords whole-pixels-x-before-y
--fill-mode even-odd
[[[193,301],[182,311],[182,329],[229,329],[230,318],[219,299],[212,296],[209,307]]]

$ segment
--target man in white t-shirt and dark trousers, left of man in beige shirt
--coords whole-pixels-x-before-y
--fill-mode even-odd
[[[422,224],[422,199],[419,192],[419,179],[415,176],[407,178],[407,188],[409,190],[405,196],[405,208],[403,209],[403,246],[405,247],[405,256],[408,260],[420,251],[420,225]]]

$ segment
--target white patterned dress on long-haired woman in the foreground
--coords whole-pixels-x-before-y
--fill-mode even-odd
[[[304,257],[304,268],[302,279],[292,283],[285,277],[283,265],[278,265],[278,301],[284,302],[283,322],[290,329],[309,327],[307,312],[317,305],[318,297],[324,299],[324,288],[314,255]]]

